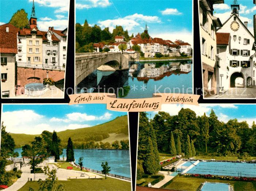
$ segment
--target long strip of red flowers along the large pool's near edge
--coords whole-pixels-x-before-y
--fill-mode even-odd
[[[182,175],[181,175],[182,176]],[[240,181],[256,181],[256,178],[250,177],[237,177],[237,176],[221,176],[221,175],[200,175],[200,174],[184,174],[188,177],[200,177],[206,179],[219,179],[219,180],[240,180]]]

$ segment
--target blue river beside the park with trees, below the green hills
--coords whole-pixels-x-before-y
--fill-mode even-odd
[[[18,152],[21,157],[21,148],[15,149],[14,152]],[[66,149],[63,149],[63,155],[66,156]],[[84,167],[101,171],[101,163],[108,161],[109,167],[111,167],[110,173],[131,177],[129,150],[74,149],[74,155],[76,163],[78,163],[79,157],[83,157]]]

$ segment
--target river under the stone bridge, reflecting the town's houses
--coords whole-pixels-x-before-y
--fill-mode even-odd
[[[128,70],[95,70],[78,84],[78,93],[130,87],[123,98],[151,98],[153,93],[192,93],[192,61],[129,62]],[[84,89],[83,89],[84,88]],[[159,91],[159,92],[158,92]],[[187,92],[190,91],[190,92]],[[120,96],[119,96],[120,97]]]

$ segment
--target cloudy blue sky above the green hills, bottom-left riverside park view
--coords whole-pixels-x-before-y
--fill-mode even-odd
[[[11,133],[41,134],[102,124],[127,112],[110,111],[106,104],[3,104],[1,121]]]

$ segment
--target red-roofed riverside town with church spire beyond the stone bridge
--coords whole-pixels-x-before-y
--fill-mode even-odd
[[[192,56],[192,48],[191,45],[187,42],[182,40],[176,40],[174,42],[170,40],[163,40],[162,38],[152,38],[148,35],[148,28],[147,24],[144,30],[144,34],[148,36],[148,38],[142,38],[141,33],[132,37],[128,42],[125,42],[124,36],[115,36],[115,42],[113,43],[94,43],[94,51],[101,51],[105,48],[109,50],[109,52],[126,52],[126,53],[135,53],[140,52],[142,53],[141,56],[145,58],[149,57],[172,57],[172,56],[181,56],[187,55]],[[124,45],[124,50],[120,48],[120,45]],[[134,50],[133,46],[139,46],[139,50]],[[159,56],[156,56],[159,54]]]

